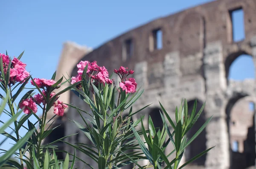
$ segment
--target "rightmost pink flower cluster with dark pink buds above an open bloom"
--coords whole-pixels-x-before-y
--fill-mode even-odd
[[[119,86],[123,91],[125,90],[126,94],[136,92],[137,83],[135,82],[135,79],[134,78],[126,79],[127,76],[134,73],[134,70],[128,71],[128,68],[124,68],[121,66],[118,70],[115,69],[114,73],[116,73],[121,78],[122,82],[119,83]]]

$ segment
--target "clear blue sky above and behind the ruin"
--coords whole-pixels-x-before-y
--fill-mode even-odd
[[[49,79],[57,68],[62,44],[73,41],[96,48],[119,34],[158,17],[211,0],[1,0],[0,53],[25,53],[22,62],[34,78]],[[241,23],[235,23],[241,29]],[[238,39],[243,36],[237,34]],[[237,59],[230,78],[254,78],[250,57]],[[40,114],[40,112],[38,112]],[[1,120],[6,121],[2,115]],[[3,137],[0,136],[0,141]],[[8,149],[6,142],[4,147]]]

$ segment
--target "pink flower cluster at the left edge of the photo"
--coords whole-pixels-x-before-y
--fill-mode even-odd
[[[3,69],[6,74],[8,65],[10,64],[10,58],[8,55],[0,54],[0,58],[3,59]],[[23,80],[29,77],[29,72],[26,71],[26,64],[21,62],[19,59],[15,58],[11,62],[10,69],[10,84],[15,84],[16,82],[23,83]]]

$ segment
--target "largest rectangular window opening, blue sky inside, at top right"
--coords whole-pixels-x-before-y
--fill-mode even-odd
[[[242,8],[236,8],[230,11],[232,23],[233,42],[239,42],[245,39],[244,32],[244,11]]]

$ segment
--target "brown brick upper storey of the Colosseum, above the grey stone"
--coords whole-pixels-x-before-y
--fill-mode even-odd
[[[245,39],[233,42],[230,12],[239,8],[244,11]],[[256,34],[254,16],[256,0],[215,0],[134,28],[105,42],[83,59],[96,60],[110,70],[120,65],[133,68],[134,63],[144,60],[148,64],[163,62],[165,54],[173,51],[179,51],[180,58],[203,53],[207,43],[216,41],[221,42],[228,54],[232,48],[249,45],[251,37]],[[157,30],[163,34],[161,49],[155,48]]]

